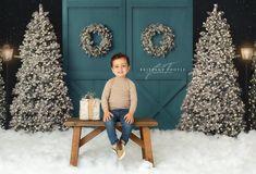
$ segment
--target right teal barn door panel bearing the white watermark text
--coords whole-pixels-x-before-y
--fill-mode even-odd
[[[126,2],[126,30],[131,36],[126,46],[133,58],[131,76],[138,90],[137,115],[155,117],[160,128],[174,128],[192,69],[192,1]],[[142,33],[153,23],[171,27],[175,35],[174,49],[164,58],[153,58],[142,47]],[[159,70],[151,72],[154,67]]]

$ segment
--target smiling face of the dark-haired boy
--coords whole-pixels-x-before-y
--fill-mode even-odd
[[[127,65],[127,61],[125,58],[120,58],[120,59],[115,59],[112,62],[112,72],[117,77],[125,77],[130,66]]]

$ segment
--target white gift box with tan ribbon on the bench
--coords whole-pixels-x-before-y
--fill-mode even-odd
[[[97,98],[80,100],[81,120],[100,120],[100,100]]]

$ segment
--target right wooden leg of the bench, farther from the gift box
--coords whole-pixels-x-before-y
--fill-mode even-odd
[[[154,165],[150,129],[148,127],[141,127],[141,136],[144,144],[144,148],[142,148],[143,159],[151,162]]]

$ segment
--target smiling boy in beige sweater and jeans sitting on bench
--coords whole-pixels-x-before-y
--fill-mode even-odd
[[[124,146],[129,141],[137,107],[137,92],[134,83],[126,77],[130,71],[130,60],[123,53],[111,58],[111,70],[115,77],[109,79],[101,96],[103,122],[112,149],[121,160],[125,156]],[[122,124],[122,135],[117,137],[115,123]]]

